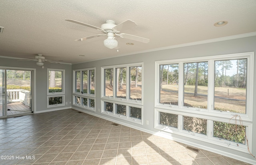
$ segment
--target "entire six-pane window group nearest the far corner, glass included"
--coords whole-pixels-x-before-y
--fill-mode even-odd
[[[73,71],[73,105],[95,111],[95,68]]]

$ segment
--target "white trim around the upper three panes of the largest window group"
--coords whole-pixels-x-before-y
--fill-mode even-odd
[[[232,113],[232,112],[220,112],[212,109],[212,105],[214,103],[214,68],[212,67],[215,60],[233,60],[236,59],[242,59],[247,58],[248,64],[247,64],[247,87],[250,87],[250,90],[247,89],[246,92],[246,114],[242,113]],[[179,64],[179,82],[183,82],[183,63],[186,62],[205,62],[208,61],[208,109],[198,109],[194,107],[183,107],[182,101],[183,101],[183,85],[179,84],[178,87],[178,106],[177,105],[163,105],[159,103],[159,66],[164,64]],[[253,64],[254,64],[254,52],[248,52],[248,53],[240,53],[240,54],[228,54],[228,55],[218,55],[218,56],[207,56],[207,57],[200,57],[200,58],[186,58],[186,59],[178,59],[178,60],[164,60],[164,61],[156,61],[155,62],[155,107],[158,108],[165,108],[165,109],[174,109],[177,111],[183,111],[183,112],[192,112],[201,114],[204,113],[206,115],[215,115],[216,117],[221,116],[225,117],[227,119],[231,118],[233,115],[240,115],[243,119],[243,121],[252,121],[252,107],[253,107]],[[251,110],[249,110],[251,109]]]

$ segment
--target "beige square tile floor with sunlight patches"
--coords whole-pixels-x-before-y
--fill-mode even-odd
[[[186,147],[74,109],[0,119],[3,165],[248,165]]]

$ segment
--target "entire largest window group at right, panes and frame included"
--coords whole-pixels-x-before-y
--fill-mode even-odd
[[[156,62],[155,128],[247,152],[253,57],[249,52]]]

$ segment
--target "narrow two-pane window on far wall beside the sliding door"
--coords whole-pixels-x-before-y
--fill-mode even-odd
[[[47,107],[65,105],[64,75],[65,70],[47,69]]]

